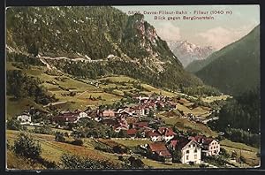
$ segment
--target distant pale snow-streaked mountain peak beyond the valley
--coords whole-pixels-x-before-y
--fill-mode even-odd
[[[205,59],[215,51],[211,46],[201,47],[186,41],[168,42],[168,45],[184,67],[194,60]]]

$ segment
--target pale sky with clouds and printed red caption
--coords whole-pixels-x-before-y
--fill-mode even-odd
[[[188,14],[155,15],[145,14],[144,18],[155,27],[156,33],[165,41],[187,41],[200,46],[212,46],[222,49],[236,42],[260,24],[259,5],[134,5],[114,6],[128,14],[129,11],[187,11]],[[195,15],[194,11],[208,11],[208,14]],[[223,14],[209,14],[220,11]],[[231,11],[226,14],[226,11]],[[155,20],[155,16],[164,16],[165,20]],[[179,16],[178,20],[167,17]],[[184,20],[183,16],[212,16],[210,20]]]

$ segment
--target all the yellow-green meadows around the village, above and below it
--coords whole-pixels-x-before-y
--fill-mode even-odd
[[[7,64],[7,70],[20,70],[18,67],[12,65],[11,62]],[[177,126],[182,132],[193,131],[197,134],[202,134],[207,137],[218,136],[218,133],[211,130],[207,125],[209,116],[212,114],[212,109],[199,105],[193,108],[193,102],[197,100],[196,97],[181,94],[178,92],[172,92],[168,89],[162,89],[158,87],[150,86],[140,80],[135,80],[130,77],[122,75],[112,75],[108,77],[102,77],[98,80],[88,80],[88,79],[77,79],[69,74],[64,73],[63,75],[52,75],[47,73],[45,67],[31,66],[30,69],[21,70],[26,72],[27,75],[39,78],[42,81],[42,86],[45,87],[50,95],[55,95],[59,99],[58,103],[49,103],[51,106],[57,107],[59,110],[86,110],[88,107],[95,110],[102,104],[113,104],[119,102],[125,97],[127,93],[140,94],[140,95],[161,95],[163,98],[172,98],[176,95],[180,96],[179,99],[174,102],[170,99],[170,103],[177,103],[177,106],[171,108],[169,111],[159,111],[155,112],[155,118],[152,120],[161,121],[161,125],[166,126]],[[71,93],[74,92],[74,95]],[[216,100],[225,100],[230,96],[208,96],[202,98],[202,102],[211,103]],[[29,106],[34,107],[34,109],[48,111],[49,105],[41,105],[35,103],[31,98],[14,99],[13,96],[7,95],[7,119],[15,118]],[[127,103],[128,106],[135,105],[133,103]],[[179,114],[181,113],[181,114]],[[139,118],[147,118],[141,116]],[[139,119],[137,118],[137,119]],[[211,118],[211,117],[210,117]],[[16,118],[17,119],[17,118]],[[200,120],[198,122],[197,120]],[[150,140],[145,139],[92,139],[86,138],[82,139],[84,142],[83,146],[72,145],[67,142],[55,141],[55,135],[34,133],[35,126],[27,126],[27,131],[33,136],[36,141],[40,141],[42,146],[42,158],[50,163],[54,162],[57,167],[60,168],[60,157],[64,153],[74,154],[79,156],[85,156],[96,160],[108,160],[115,164],[124,164],[124,161],[120,160],[120,156],[129,157],[134,156],[139,158],[146,166],[154,169],[194,169],[200,168],[199,164],[165,164],[146,156],[141,156],[138,154],[123,154],[118,155],[115,153],[104,152],[102,150],[96,149],[98,142],[114,142],[116,144],[122,145],[125,148],[134,149],[137,146],[149,144]],[[52,132],[72,133],[71,130],[58,129],[53,126]],[[17,138],[19,132],[14,130],[6,130],[7,141],[9,145],[13,145],[14,140]],[[66,138],[67,141],[73,141],[72,136]],[[223,140],[220,142],[221,148],[224,148],[228,154],[231,156],[232,152],[236,152],[238,156],[243,156],[246,159],[245,164],[239,164],[233,160],[228,159],[230,167],[254,167],[260,163],[260,158],[257,153],[260,152],[258,148],[247,146],[243,143],[237,143],[230,140]],[[43,164],[32,162],[23,157],[15,155],[11,147],[7,149],[7,168],[8,169],[21,169],[21,170],[34,170],[34,169],[46,169]],[[239,158],[239,157],[237,157]],[[19,164],[21,163],[21,164]],[[209,164],[209,167],[218,167]]]

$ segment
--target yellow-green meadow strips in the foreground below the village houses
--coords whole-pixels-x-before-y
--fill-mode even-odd
[[[18,131],[7,130],[7,141],[10,145],[13,144],[13,141],[17,138]],[[42,146],[42,157],[49,161],[55,162],[57,165],[60,164],[60,156],[63,153],[69,153],[79,156],[85,156],[93,159],[99,160],[110,160],[113,163],[123,164],[123,161],[118,160],[118,156],[135,156],[140,158],[144,164],[148,167],[152,167],[152,169],[193,169],[200,168],[199,164],[189,165],[189,164],[164,164],[162,162],[158,162],[155,160],[148,159],[145,156],[140,156],[137,154],[133,155],[120,155],[116,153],[107,153],[103,151],[99,151],[95,149],[95,142],[103,139],[83,139],[83,146],[75,146],[69,143],[62,143],[55,141],[54,135],[40,134],[40,133],[32,133],[32,136],[35,140],[40,141]],[[68,140],[72,140],[72,138],[68,138]],[[110,141],[110,140],[104,140]],[[132,140],[132,139],[111,139],[111,141],[115,141],[118,144],[122,144],[125,147],[132,148],[140,144],[150,143],[148,140]],[[231,167],[242,167],[242,168],[250,168],[259,164],[259,157],[256,156],[258,152],[258,148],[253,148],[250,146],[246,146],[242,143],[232,142],[229,140],[221,141],[221,146],[228,150],[229,154],[231,154],[232,150],[239,152],[241,150],[242,156],[246,157],[247,164],[239,164],[231,161],[231,164],[234,166]],[[212,166],[216,167],[216,166]],[[36,163],[30,160],[25,160],[25,158],[16,156],[11,148],[7,149],[7,168],[8,169],[19,169],[19,170],[42,170],[46,169],[42,164]],[[222,167],[219,167],[222,168]]]

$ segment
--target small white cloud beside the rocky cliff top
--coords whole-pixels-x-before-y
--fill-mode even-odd
[[[170,22],[163,23],[163,26],[156,27],[156,33],[165,41],[180,40],[180,29]]]

